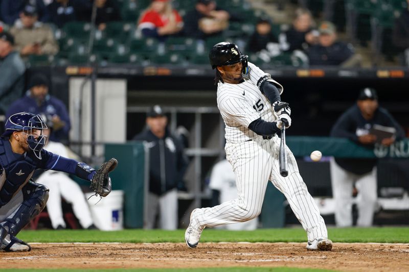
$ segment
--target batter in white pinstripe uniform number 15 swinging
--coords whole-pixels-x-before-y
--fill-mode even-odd
[[[225,123],[226,159],[233,166],[238,198],[212,208],[193,210],[185,232],[187,245],[196,248],[206,227],[258,216],[270,180],[286,196],[307,232],[307,249],[331,250],[332,241],[328,239],[324,219],[288,147],[288,176],[280,175],[280,139],[276,133],[282,126],[291,125],[288,103],[280,98],[283,87],[247,62],[247,56],[234,43],[217,43],[209,59],[216,69],[217,106]]]

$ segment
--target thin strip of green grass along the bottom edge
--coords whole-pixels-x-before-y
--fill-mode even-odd
[[[126,272],[158,272],[158,271],[167,271],[167,272],[207,272],[207,271],[215,271],[215,272],[245,272],[245,271],[260,271],[260,272],[312,272],[312,271],[319,271],[319,272],[334,272],[335,270],[327,270],[327,269],[311,269],[311,268],[294,268],[294,267],[212,267],[212,268],[189,268],[189,269],[2,269],[5,272],[42,272],[42,271],[58,271],[58,272],[115,272],[115,271],[126,271]]]

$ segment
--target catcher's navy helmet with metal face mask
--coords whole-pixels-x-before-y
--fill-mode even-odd
[[[34,155],[41,159],[41,150],[46,145],[47,136],[43,135],[43,130],[47,129],[46,123],[40,115],[29,112],[19,112],[11,115],[5,125],[5,132],[2,137],[9,137],[14,131],[22,131],[27,135],[27,143]],[[39,132],[34,132],[39,131]]]

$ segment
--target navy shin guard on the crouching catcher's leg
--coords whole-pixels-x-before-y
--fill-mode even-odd
[[[11,218],[6,218],[1,223],[7,233],[13,236],[17,235],[22,228],[29,224],[46,207],[49,196],[49,188],[32,181],[29,181],[21,190],[23,202]]]

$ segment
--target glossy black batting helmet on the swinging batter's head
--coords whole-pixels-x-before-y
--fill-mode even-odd
[[[215,44],[209,53],[213,69],[217,66],[232,65],[238,62],[243,62],[243,68],[247,67],[247,57],[241,54],[236,44],[226,41]]]

